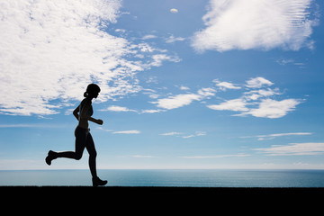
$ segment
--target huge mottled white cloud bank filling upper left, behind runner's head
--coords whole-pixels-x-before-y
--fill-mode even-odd
[[[104,31],[120,8],[118,0],[1,1],[0,112],[57,113],[93,82],[102,89],[97,102],[136,93],[137,72],[179,61]]]

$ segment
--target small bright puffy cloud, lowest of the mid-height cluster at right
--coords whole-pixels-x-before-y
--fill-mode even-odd
[[[250,109],[248,112],[242,112],[242,115],[251,114],[255,117],[263,117],[269,119],[281,118],[287,112],[293,111],[296,105],[302,103],[302,100],[286,99],[283,101],[275,101],[272,99],[263,99],[259,103],[257,109]]]

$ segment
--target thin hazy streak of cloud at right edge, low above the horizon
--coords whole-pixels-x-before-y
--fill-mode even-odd
[[[253,150],[260,151],[269,156],[321,155],[324,154],[324,143],[290,143],[286,146],[273,145],[271,148],[254,148]]]

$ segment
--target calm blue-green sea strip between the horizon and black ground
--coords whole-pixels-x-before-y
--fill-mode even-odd
[[[108,186],[324,187],[324,170],[98,170]],[[91,185],[88,170],[0,171],[0,185]]]

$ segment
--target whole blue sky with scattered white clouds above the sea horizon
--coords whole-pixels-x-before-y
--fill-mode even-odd
[[[324,168],[322,1],[3,1],[0,169]]]

